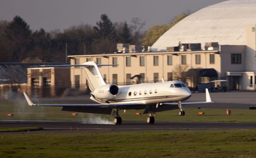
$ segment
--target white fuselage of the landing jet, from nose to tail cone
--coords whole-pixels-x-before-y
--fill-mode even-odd
[[[191,92],[180,81],[168,81],[148,84],[118,86],[119,92],[112,99],[90,99],[101,104],[141,103],[155,105],[156,103],[184,101],[191,96]]]

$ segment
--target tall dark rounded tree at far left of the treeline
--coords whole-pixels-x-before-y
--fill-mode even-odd
[[[15,16],[6,27],[3,39],[6,41],[8,52],[12,55],[12,61],[21,62],[32,49],[31,30],[29,25],[20,16]]]

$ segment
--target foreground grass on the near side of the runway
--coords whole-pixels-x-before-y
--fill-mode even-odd
[[[255,158],[256,129],[0,135],[0,146],[1,158]]]

